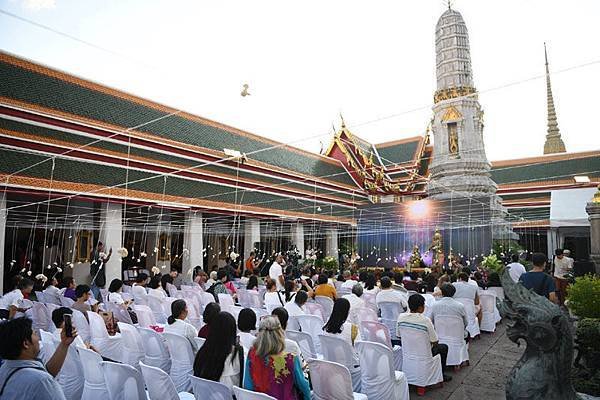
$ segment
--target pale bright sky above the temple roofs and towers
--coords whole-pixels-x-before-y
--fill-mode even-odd
[[[469,29],[491,160],[542,154],[544,41],[554,72],[596,62],[553,75],[552,85],[567,150],[600,149],[591,118],[600,93],[600,1],[453,4]],[[120,55],[3,14],[0,49],[318,152],[340,112],[373,143],[424,133],[435,91],[434,29],[446,7],[441,0],[0,0],[2,10]],[[240,96],[243,83],[248,97]]]

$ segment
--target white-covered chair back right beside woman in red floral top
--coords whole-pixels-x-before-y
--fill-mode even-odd
[[[308,360],[313,400],[368,400],[367,395],[352,391],[352,378],[342,364]]]

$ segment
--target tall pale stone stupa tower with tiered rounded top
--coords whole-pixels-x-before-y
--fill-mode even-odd
[[[450,7],[435,32],[437,91],[434,96],[433,161],[429,197],[493,196],[490,163],[483,143],[483,110],[473,83],[469,34],[462,15]]]

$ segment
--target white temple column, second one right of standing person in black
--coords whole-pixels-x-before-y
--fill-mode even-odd
[[[202,254],[204,243],[202,235],[202,213],[187,211],[183,233],[183,260],[181,263],[181,275],[184,282],[191,282],[194,279],[193,274],[196,266],[204,266],[204,257]],[[185,254],[185,250],[187,250],[187,254]]]

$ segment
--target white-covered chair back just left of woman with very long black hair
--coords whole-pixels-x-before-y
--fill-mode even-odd
[[[170,376],[178,392],[190,390],[190,375],[194,371],[194,352],[187,338],[174,333],[163,333],[171,355]]]

